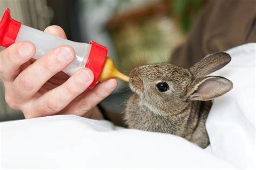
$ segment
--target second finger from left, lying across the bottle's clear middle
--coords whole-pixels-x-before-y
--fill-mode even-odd
[[[29,67],[24,69],[15,79],[14,92],[21,98],[30,98],[53,75],[63,70],[75,58],[75,51],[68,45],[53,49]]]

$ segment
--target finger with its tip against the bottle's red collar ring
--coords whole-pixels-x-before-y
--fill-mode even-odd
[[[37,107],[33,112],[39,116],[56,114],[83,93],[90,86],[93,78],[93,73],[89,68],[78,70],[68,81],[38,98],[37,104],[35,104]]]

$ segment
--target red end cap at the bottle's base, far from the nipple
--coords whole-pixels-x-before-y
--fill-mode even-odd
[[[21,28],[21,23],[12,19],[10,14],[11,12],[7,8],[0,23],[0,46],[4,47],[14,44]]]

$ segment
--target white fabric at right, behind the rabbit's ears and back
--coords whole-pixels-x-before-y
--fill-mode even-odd
[[[233,82],[233,89],[213,100],[206,121],[211,150],[240,168],[255,168],[256,43],[226,51],[232,60],[212,75]]]

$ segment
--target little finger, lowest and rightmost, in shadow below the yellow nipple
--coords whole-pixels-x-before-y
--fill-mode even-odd
[[[70,105],[61,111],[62,114],[75,114],[88,117],[85,113],[94,108],[104,98],[109,96],[117,87],[116,79],[110,79],[96,84],[95,88],[86,90],[82,95],[73,100]],[[89,116],[91,117],[91,116]]]

